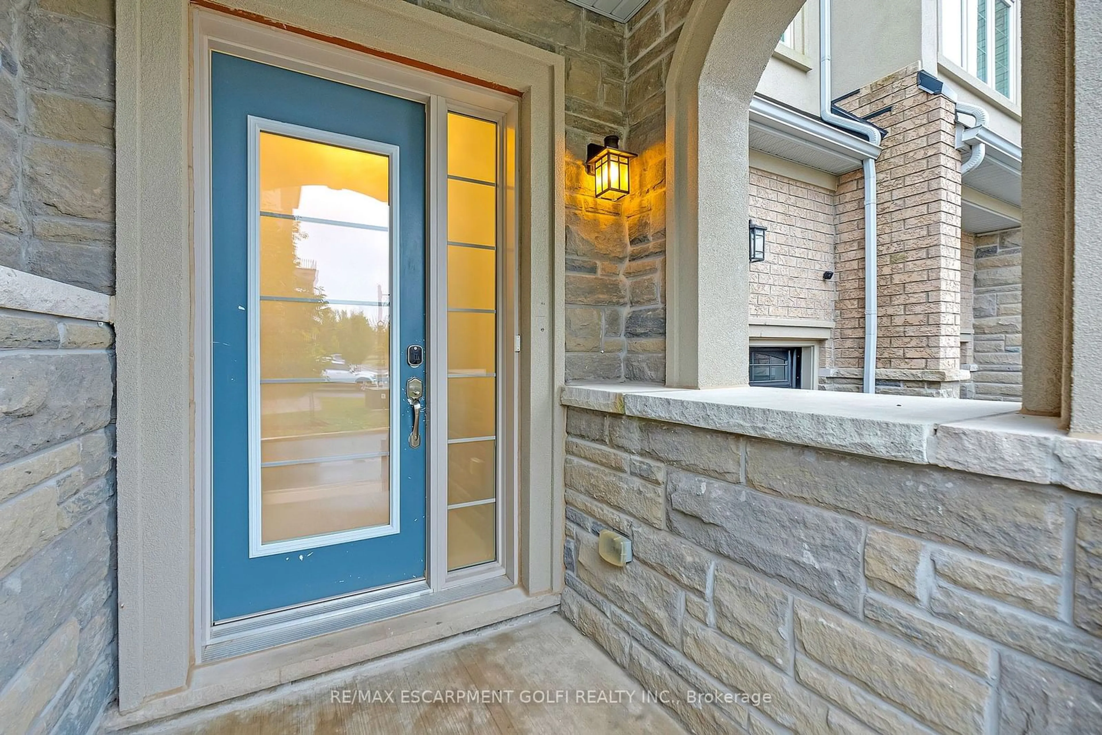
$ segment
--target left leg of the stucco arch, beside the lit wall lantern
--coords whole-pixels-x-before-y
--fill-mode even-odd
[[[666,84],[667,383],[745,386],[750,98],[802,0],[698,0]]]

